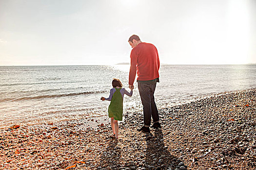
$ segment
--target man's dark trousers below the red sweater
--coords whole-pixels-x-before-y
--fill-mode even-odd
[[[155,102],[155,89],[157,83],[142,83],[138,81],[138,91],[143,105],[144,126],[149,127],[151,116],[154,122],[159,121],[158,108]]]

